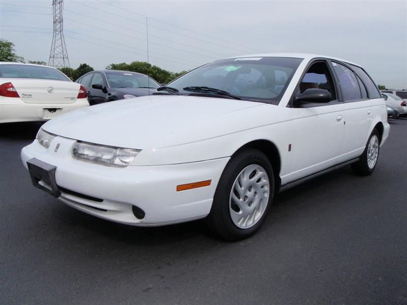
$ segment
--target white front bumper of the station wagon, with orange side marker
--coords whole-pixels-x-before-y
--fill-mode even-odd
[[[134,226],[166,225],[207,216],[229,160],[117,168],[73,159],[74,143],[72,139],[55,137],[46,149],[36,140],[21,150],[21,159],[26,168],[32,158],[56,166],[55,181],[61,190],[58,199],[64,203]],[[54,149],[56,144],[60,144],[59,149]],[[177,192],[177,185],[203,180],[212,180],[211,185]],[[145,213],[142,219],[135,216],[133,206]]]

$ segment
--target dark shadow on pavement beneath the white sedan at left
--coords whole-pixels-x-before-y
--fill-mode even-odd
[[[44,122],[18,122],[0,124],[0,139],[34,140]]]

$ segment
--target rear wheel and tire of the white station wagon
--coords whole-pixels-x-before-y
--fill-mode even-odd
[[[370,175],[376,167],[380,152],[380,135],[377,129],[373,129],[367,140],[365,150],[358,162],[352,164],[352,170],[355,174],[361,176]]]

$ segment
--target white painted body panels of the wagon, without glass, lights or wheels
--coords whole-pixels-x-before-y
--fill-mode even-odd
[[[383,99],[287,107],[310,60],[331,57],[260,54],[236,58],[265,56],[304,58],[278,105],[171,95],[79,109],[48,121],[43,129],[57,136],[49,149],[37,140],[24,147],[23,164],[27,167],[26,161],[36,158],[54,165],[58,186],[103,199],[94,202],[63,191],[60,199],[77,209],[119,223],[156,226],[207,216],[227,162],[249,142],[266,140],[276,146],[281,160],[278,175],[285,185],[359,157],[376,124],[383,126],[381,145],[386,141],[390,127]],[[126,168],[103,166],[75,160],[72,146],[76,140],[141,152]],[[211,185],[176,191],[177,185],[203,180],[212,180]],[[144,210],[146,217],[135,218],[133,205]]]

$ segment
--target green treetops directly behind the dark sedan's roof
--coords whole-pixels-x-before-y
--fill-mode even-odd
[[[108,70],[123,70],[123,71],[132,71],[137,73],[146,74],[154,78],[159,83],[168,83],[169,81],[177,78],[178,76],[184,74],[186,71],[182,72],[170,72],[164,69],[161,69],[158,66],[152,66],[146,62],[132,62],[130,64],[120,63],[120,64],[111,64],[106,67]]]

